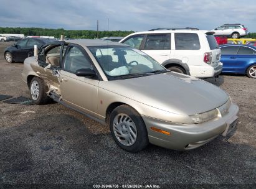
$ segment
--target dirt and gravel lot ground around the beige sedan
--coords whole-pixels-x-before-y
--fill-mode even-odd
[[[4,61],[7,45],[0,43],[0,94],[29,97],[21,81],[23,64]],[[189,152],[149,145],[131,154],[116,146],[107,126],[60,104],[24,106],[0,101],[0,186],[255,188],[256,80],[221,75],[216,82],[207,81],[227,91],[239,105],[239,123],[229,139],[217,137]]]

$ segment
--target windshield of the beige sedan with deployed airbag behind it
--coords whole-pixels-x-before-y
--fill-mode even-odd
[[[109,80],[168,72],[146,53],[131,47],[88,47]]]

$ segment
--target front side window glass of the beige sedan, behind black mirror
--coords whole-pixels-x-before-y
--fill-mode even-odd
[[[70,47],[69,51],[65,55],[64,69],[75,73],[75,71],[82,68],[89,68],[93,70],[90,59],[85,57],[78,47]]]

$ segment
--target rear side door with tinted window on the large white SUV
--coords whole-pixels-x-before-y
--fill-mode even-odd
[[[171,34],[147,34],[141,50],[159,63],[169,60],[171,55]]]

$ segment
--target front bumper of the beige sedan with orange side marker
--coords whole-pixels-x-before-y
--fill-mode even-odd
[[[228,126],[227,122],[232,118],[237,118],[238,112],[239,107],[231,104],[228,114],[225,114],[222,118],[216,118],[201,124],[176,124],[147,116],[142,116],[142,118],[151,144],[174,150],[191,150],[223,134]],[[170,134],[153,131],[151,127],[167,131]]]

